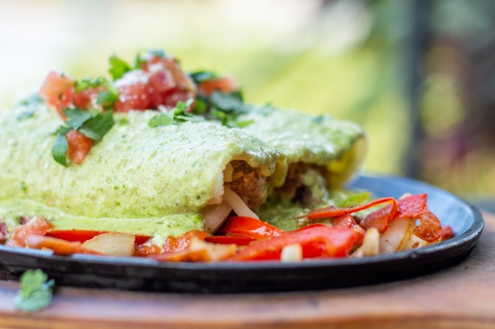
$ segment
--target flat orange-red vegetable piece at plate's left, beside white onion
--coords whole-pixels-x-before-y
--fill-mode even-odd
[[[34,249],[52,249],[58,256],[69,256],[74,253],[89,253],[100,255],[96,251],[85,249],[80,242],[69,242],[62,239],[51,238],[50,236],[28,235],[25,239],[26,245]]]

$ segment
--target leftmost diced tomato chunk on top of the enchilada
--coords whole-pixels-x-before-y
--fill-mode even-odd
[[[74,101],[74,80],[51,71],[43,81],[39,93],[65,119],[63,110]]]

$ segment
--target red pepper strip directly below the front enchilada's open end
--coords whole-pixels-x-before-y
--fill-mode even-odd
[[[256,218],[230,216],[218,229],[217,234],[242,235],[260,240],[272,236],[283,236],[287,232]]]

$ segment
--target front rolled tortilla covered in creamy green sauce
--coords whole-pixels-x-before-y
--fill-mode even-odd
[[[56,229],[178,235],[203,229],[198,212],[221,202],[231,161],[263,177],[280,170],[281,153],[239,129],[209,122],[151,128],[156,111],[115,114],[84,163],[65,168],[52,157],[61,118],[44,105],[21,118],[25,111],[0,112],[0,216],[10,227],[37,215]]]

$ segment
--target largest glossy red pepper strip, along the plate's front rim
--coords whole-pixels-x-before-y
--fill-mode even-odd
[[[345,257],[355,245],[356,235],[350,229],[337,227],[306,227],[254,242],[236,253],[230,260],[280,260],[282,249],[298,243],[303,249],[303,258]]]

